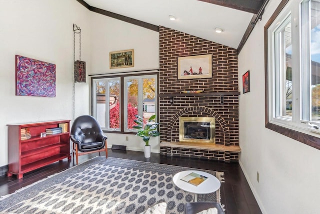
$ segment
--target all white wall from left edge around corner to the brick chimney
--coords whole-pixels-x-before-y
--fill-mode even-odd
[[[86,83],[74,87],[74,117],[90,114],[88,74],[159,68],[158,32],[90,12],[75,0],[0,0],[0,5],[0,166],[7,164],[7,124],[73,119],[73,24],[81,28],[87,72]],[[134,49],[134,67],[110,70],[109,52],[126,49]],[[15,96],[15,55],[56,65],[56,97]],[[108,134],[108,147],[113,143],[143,149],[134,135]],[[150,143],[151,151],[159,152],[159,138]]]

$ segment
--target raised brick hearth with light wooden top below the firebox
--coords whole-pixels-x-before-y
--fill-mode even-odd
[[[160,154],[166,156],[238,162],[240,152],[241,148],[239,146],[225,146],[209,143],[160,142]]]

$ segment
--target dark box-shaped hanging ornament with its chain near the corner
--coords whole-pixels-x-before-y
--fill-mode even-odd
[[[79,60],[75,59],[75,34],[79,34]],[[85,83],[85,62],[81,61],[81,29],[73,24],[73,62],[74,62],[74,82]]]

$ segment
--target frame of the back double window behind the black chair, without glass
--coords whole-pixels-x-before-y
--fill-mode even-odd
[[[89,75],[90,76],[90,75]],[[94,102],[96,101],[95,100],[95,88],[94,87],[94,81],[100,79],[100,80],[103,80],[103,79],[112,79],[112,78],[120,78],[120,129],[119,130],[111,130],[111,129],[106,129],[106,128],[102,128],[102,131],[105,132],[105,133],[119,133],[119,134],[136,134],[136,131],[134,130],[126,130],[125,129],[125,120],[126,120],[126,117],[125,117],[125,113],[124,113],[124,105],[126,102],[126,95],[125,95],[125,92],[126,92],[126,83],[124,81],[124,79],[126,77],[138,77],[138,78],[143,78],[143,77],[150,77],[150,76],[154,76],[155,77],[155,87],[156,87],[156,92],[155,92],[155,114],[158,115],[159,113],[159,106],[158,106],[158,99],[159,99],[159,94],[158,94],[158,87],[159,87],[159,73],[158,72],[134,72],[134,74],[132,74],[131,72],[124,72],[124,73],[121,73],[121,74],[110,74],[110,75],[107,75],[107,74],[103,74],[103,75],[99,75],[97,77],[91,77],[91,87],[90,87],[90,90],[91,90],[91,103],[90,103],[90,107],[91,107],[91,115],[93,117],[95,117],[94,115]],[[139,92],[138,92],[139,93]],[[141,106],[142,106],[142,103],[141,103]],[[138,112],[138,114],[140,115],[140,112]],[[142,115],[140,115],[142,116]],[[156,117],[156,120],[158,120],[158,117]]]

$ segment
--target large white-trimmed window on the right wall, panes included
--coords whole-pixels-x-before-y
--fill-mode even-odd
[[[277,16],[265,26],[266,127],[274,129],[271,123],[319,137],[320,0],[281,4],[285,7],[277,9]]]

